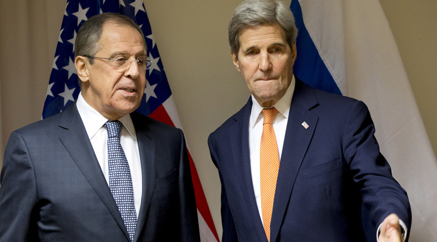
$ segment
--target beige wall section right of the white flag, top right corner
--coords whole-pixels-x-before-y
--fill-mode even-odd
[[[437,154],[437,1],[380,0]]]

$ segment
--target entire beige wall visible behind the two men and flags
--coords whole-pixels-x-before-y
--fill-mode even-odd
[[[290,1],[285,2],[289,5]],[[65,2],[0,2],[1,154],[13,130],[41,119]],[[240,1],[144,2],[188,146],[221,234],[220,185],[206,140],[249,97],[227,43],[229,17]],[[437,1],[381,0],[381,4],[436,152]]]

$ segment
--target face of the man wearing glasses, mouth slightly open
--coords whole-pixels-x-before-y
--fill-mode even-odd
[[[127,26],[114,23],[103,25],[98,43],[101,49],[96,57],[115,58],[128,56],[130,60],[146,56],[140,33]],[[109,120],[117,120],[133,112],[141,103],[146,87],[146,76],[138,72],[137,63],[131,62],[125,70],[117,69],[109,60],[85,61],[87,76],[81,80],[84,100]]]

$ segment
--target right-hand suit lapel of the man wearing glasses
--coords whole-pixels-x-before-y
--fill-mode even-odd
[[[136,241],[144,226],[144,222],[146,221],[153,195],[153,188],[155,186],[156,142],[152,139],[153,130],[149,129],[149,126],[144,122],[144,120],[139,121],[136,118],[136,114],[131,114],[131,118],[132,122],[134,123],[136,137],[138,139],[138,150],[141,160],[141,175],[143,180],[141,206],[134,236],[134,241]]]

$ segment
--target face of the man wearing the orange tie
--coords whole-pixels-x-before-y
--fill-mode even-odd
[[[231,53],[235,67],[261,106],[275,105],[291,83],[296,44],[290,48],[279,24],[248,27],[239,42],[238,60]]]

